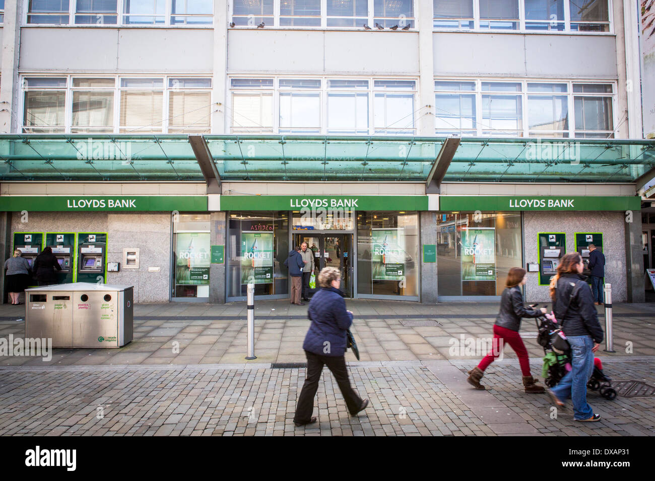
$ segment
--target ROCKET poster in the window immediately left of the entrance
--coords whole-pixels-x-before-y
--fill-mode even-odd
[[[272,284],[273,233],[241,232],[241,283]]]

